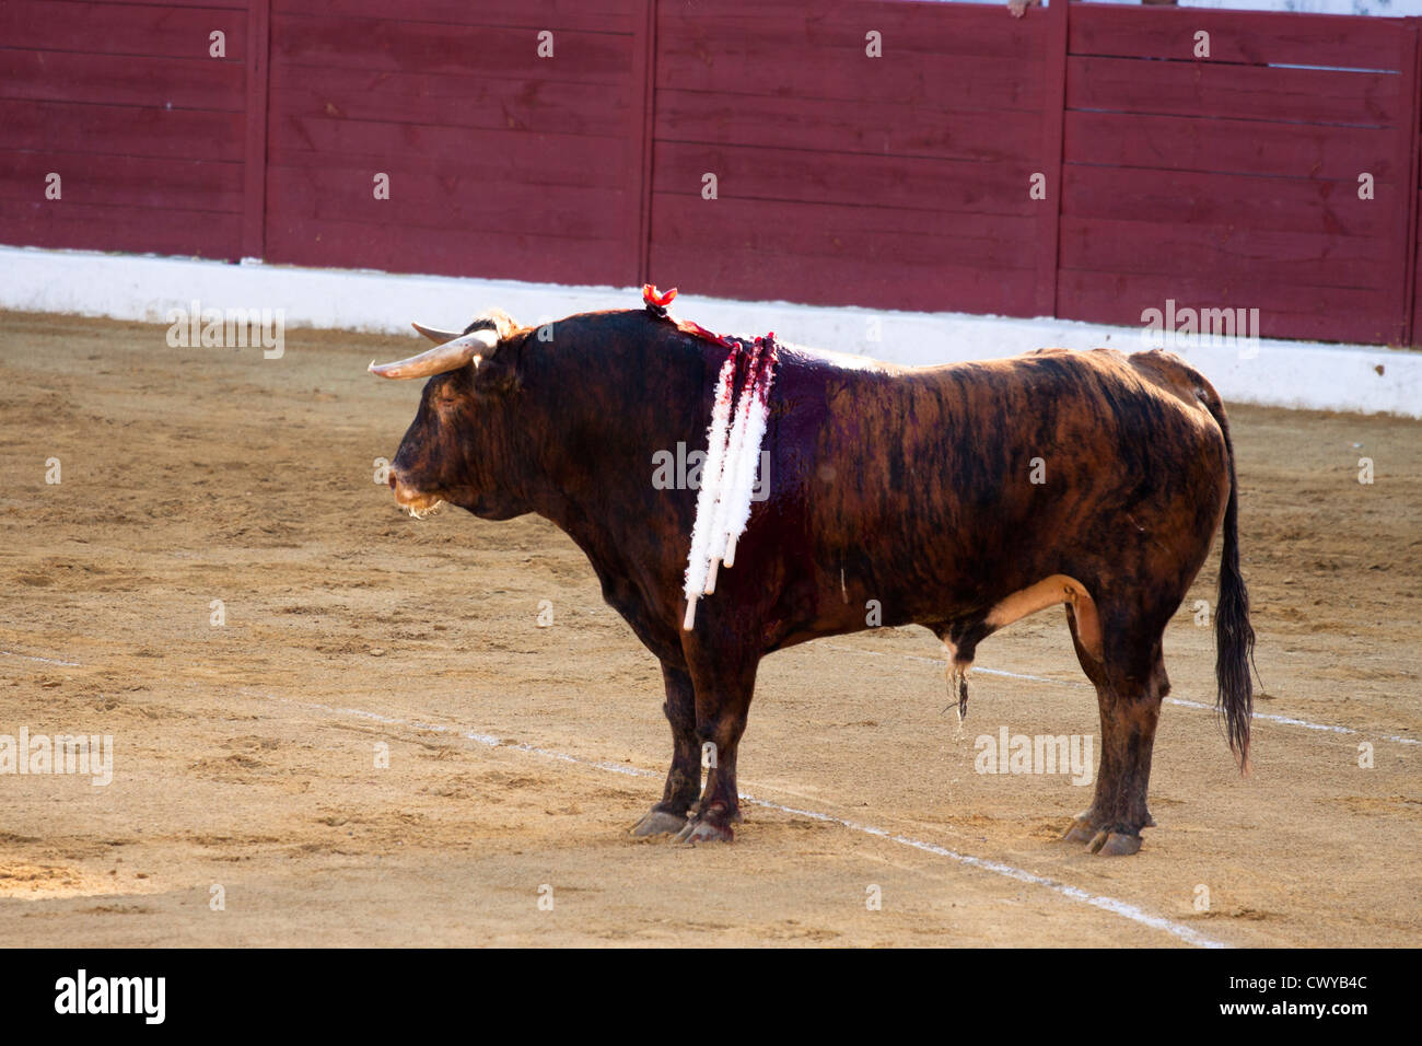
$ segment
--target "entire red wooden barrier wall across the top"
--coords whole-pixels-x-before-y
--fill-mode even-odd
[[[1419,21],[3,0],[0,242],[1422,343]]]

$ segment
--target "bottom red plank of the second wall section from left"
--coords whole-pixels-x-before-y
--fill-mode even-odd
[[[392,233],[385,223],[276,221],[267,226],[267,260],[282,265],[370,268],[438,276],[482,276],[549,283],[614,283],[619,241],[418,229]]]

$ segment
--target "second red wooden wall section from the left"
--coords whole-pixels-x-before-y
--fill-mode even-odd
[[[634,282],[640,7],[273,0],[266,256]]]

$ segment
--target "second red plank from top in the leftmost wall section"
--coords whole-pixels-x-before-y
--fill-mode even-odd
[[[0,98],[242,111],[246,75],[237,63],[210,58],[0,48]]]

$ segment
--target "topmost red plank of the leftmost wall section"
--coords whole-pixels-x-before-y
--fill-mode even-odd
[[[54,3],[6,0],[0,40],[6,47],[81,54],[243,61],[246,11],[173,9],[169,4]],[[210,57],[209,34],[220,31],[225,57]]]

